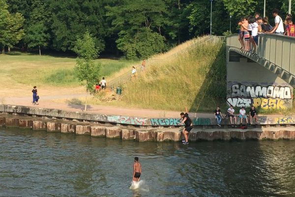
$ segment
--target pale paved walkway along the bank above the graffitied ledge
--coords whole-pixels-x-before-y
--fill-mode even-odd
[[[52,108],[67,111],[84,111],[84,105],[75,105],[62,102],[54,102],[53,99],[74,99],[86,97],[86,94],[71,94],[71,95],[53,95],[43,96],[39,105],[33,105],[31,102],[32,97],[4,97],[4,104],[23,105],[39,108]],[[165,111],[153,109],[138,109],[138,108],[124,108],[116,106],[102,106],[102,105],[88,105],[88,113],[106,114],[106,115],[122,115],[133,116],[141,118],[179,118],[179,111]],[[189,113],[191,118],[212,118],[213,113]],[[275,116],[278,115],[267,115]]]

